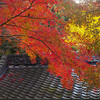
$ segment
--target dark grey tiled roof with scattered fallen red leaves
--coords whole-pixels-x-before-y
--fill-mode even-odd
[[[96,100],[100,90],[89,91],[82,82],[72,90],[62,88],[60,77],[46,71],[47,65],[31,64],[27,55],[2,56],[0,60],[0,100]],[[73,75],[75,76],[75,75]]]

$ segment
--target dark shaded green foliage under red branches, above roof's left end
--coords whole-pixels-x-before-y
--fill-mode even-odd
[[[1,37],[0,37],[0,55],[6,54],[21,54],[25,53],[25,50],[22,50],[18,47],[19,42],[11,36],[7,36],[7,30],[5,27],[2,28]]]

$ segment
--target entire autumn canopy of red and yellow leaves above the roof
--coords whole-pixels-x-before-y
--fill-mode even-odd
[[[100,65],[85,62],[93,55],[100,55],[100,10],[93,1],[89,5],[76,4],[73,0],[2,2],[1,38],[9,42],[14,38],[33,63],[37,55],[41,64],[48,61],[48,71],[61,76],[65,88],[73,87],[73,70],[90,88],[100,88]]]

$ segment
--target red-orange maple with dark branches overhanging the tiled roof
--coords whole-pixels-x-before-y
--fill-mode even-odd
[[[90,87],[99,87],[97,83],[100,77],[99,65],[92,66],[85,62],[87,48],[80,46],[82,50],[80,54],[83,56],[77,59],[78,55],[71,48],[74,43],[66,43],[63,39],[67,36],[63,28],[67,19],[60,19],[54,9],[60,3],[58,0],[3,0],[3,2],[6,3],[6,7],[0,8],[0,31],[5,27],[8,32],[4,36],[19,41],[18,47],[25,49],[33,63],[36,62],[37,54],[42,59],[41,63],[47,60],[48,71],[61,76],[63,86],[68,89],[72,89],[74,83],[72,69],[79,76],[79,80],[87,82]],[[89,54],[92,56],[91,52]]]

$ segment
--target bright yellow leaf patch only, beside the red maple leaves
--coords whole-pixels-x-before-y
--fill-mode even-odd
[[[65,42],[84,44],[87,48],[92,47],[94,51],[100,53],[100,16],[87,18],[87,25],[76,25],[74,22],[69,24],[69,36],[65,39]]]

